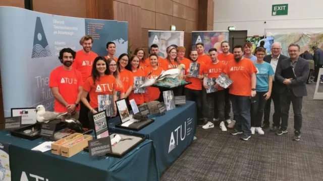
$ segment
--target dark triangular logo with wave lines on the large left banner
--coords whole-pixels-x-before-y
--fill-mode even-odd
[[[44,29],[42,27],[40,17],[37,17],[31,58],[41,58],[41,57],[50,57],[50,56],[51,56],[51,53],[45,36]]]

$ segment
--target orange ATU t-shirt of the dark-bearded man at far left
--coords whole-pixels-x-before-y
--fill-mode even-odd
[[[72,70],[65,70],[63,65],[53,69],[49,75],[49,87],[58,87],[59,93],[68,104],[75,104],[79,94],[79,86],[83,85],[82,74],[72,67]],[[79,111],[80,106],[75,108]],[[55,99],[54,111],[67,112],[65,106]]]

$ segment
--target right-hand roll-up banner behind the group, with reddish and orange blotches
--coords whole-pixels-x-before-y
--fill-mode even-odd
[[[210,48],[216,48],[218,53],[222,53],[222,41],[229,41],[229,31],[192,31],[192,50],[195,50],[197,43],[203,43],[205,54],[208,54]]]

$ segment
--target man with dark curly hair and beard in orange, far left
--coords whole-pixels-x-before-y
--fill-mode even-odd
[[[54,111],[69,112],[78,120],[83,81],[81,72],[71,66],[75,56],[76,52],[71,48],[60,51],[59,59],[63,65],[51,71],[49,87],[55,98]]]

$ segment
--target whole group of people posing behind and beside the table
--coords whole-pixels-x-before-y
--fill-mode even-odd
[[[70,112],[79,119],[84,127],[91,127],[92,115],[97,113],[100,95],[112,95],[114,108],[110,117],[116,116],[118,99],[132,100],[137,105],[158,100],[159,89],[147,87],[145,93],[135,94],[138,87],[134,77],[155,78],[163,71],[185,65],[181,78],[191,82],[183,89],[174,92],[175,96],[185,95],[188,101],[196,102],[198,125],[204,129],[213,128],[214,122],[220,122],[220,128],[231,134],[242,134],[242,140],[248,140],[251,134],[264,134],[269,127],[271,101],[275,106],[271,131],[281,135],[287,133],[287,120],[290,103],[295,114],[294,140],[300,139],[302,124],[302,97],[306,96],[305,81],[309,73],[308,61],[299,57],[299,46],[289,46],[290,58],[281,55],[280,43],[272,45],[272,55],[265,56],[265,49],[258,47],[252,55],[252,44],[237,45],[230,53],[229,42],[221,43],[222,53],[211,48],[204,53],[203,43],[197,43],[185,58],[184,47],[169,47],[167,58],[158,56],[158,46],[150,46],[150,55],[145,58],[142,48],[137,48],[134,55],[124,53],[114,57],[116,45],[106,44],[107,56],[98,56],[91,50],[93,39],[84,36],[80,40],[83,49],[74,52],[70,48],[60,51],[62,66],[52,70],[49,87],[55,97],[55,111]],[[190,74],[190,63],[199,64],[198,76]],[[286,79],[282,70],[292,66],[296,79]],[[225,73],[233,83],[228,88],[214,84],[214,93],[206,93],[207,78],[217,78]],[[305,79],[304,79],[305,77]],[[231,106],[232,103],[232,106]],[[231,107],[234,118],[231,120]],[[264,123],[261,125],[264,115]],[[281,121],[282,120],[282,121]]]

